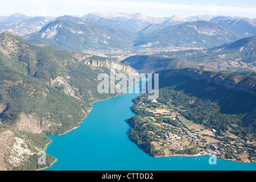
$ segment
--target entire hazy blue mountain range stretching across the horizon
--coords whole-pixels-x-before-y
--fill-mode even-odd
[[[221,46],[256,35],[255,24],[255,19],[218,15],[154,18],[142,13],[94,11],[55,19],[1,16],[0,32],[14,32],[37,46],[120,56]]]

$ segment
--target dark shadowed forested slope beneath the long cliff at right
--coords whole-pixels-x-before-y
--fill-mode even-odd
[[[255,76],[208,72],[196,68],[164,70],[158,73],[160,88],[176,85],[177,90],[185,90],[187,94],[218,103],[222,113],[255,115]],[[254,119],[250,120],[254,122],[253,125]]]

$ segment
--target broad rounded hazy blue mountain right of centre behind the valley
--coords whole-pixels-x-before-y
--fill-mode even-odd
[[[242,38],[240,34],[217,24],[197,21],[168,26],[135,40],[141,48],[210,48]]]

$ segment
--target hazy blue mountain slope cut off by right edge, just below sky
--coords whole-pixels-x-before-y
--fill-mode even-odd
[[[217,16],[211,19],[210,22],[220,24],[246,36],[256,36],[256,21],[254,19]]]

